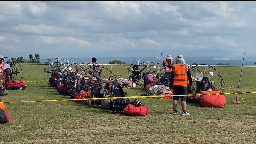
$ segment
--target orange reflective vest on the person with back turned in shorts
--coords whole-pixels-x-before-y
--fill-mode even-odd
[[[188,64],[179,66],[175,64],[172,66],[174,72],[173,85],[188,86]]]

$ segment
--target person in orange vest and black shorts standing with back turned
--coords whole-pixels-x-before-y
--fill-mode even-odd
[[[172,66],[171,72],[171,87],[173,88],[173,95],[187,95],[188,81],[189,89],[192,90],[193,88],[190,69],[188,64],[185,63],[182,55],[178,55],[174,61],[175,64]],[[186,111],[186,98],[187,96],[180,96],[182,116],[189,116],[189,113]],[[178,114],[178,111],[176,110],[178,100],[178,96],[174,96],[172,98],[173,115]]]

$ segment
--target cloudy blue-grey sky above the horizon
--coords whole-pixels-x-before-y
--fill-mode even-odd
[[[0,2],[5,57],[255,55],[256,2]],[[241,58],[239,58],[241,59]]]

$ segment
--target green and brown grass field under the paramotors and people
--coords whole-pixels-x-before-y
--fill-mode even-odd
[[[42,65],[22,65],[22,80],[44,80]],[[123,67],[118,72],[127,75]],[[216,67],[226,84],[237,87],[240,67]],[[255,91],[256,68],[244,67],[242,92]],[[3,102],[68,99],[46,82],[27,82],[22,91],[9,90]],[[128,96],[136,90],[127,89]],[[236,92],[226,86],[224,92]],[[143,90],[138,89],[140,95]],[[243,96],[243,99],[241,99]],[[239,95],[245,105],[232,104],[226,95],[224,108],[187,103],[189,117],[172,116],[172,100],[139,99],[148,107],[146,117],[111,114],[76,102],[5,104],[11,121],[0,125],[0,143],[254,143],[256,94]],[[181,111],[180,101],[177,110]]]

